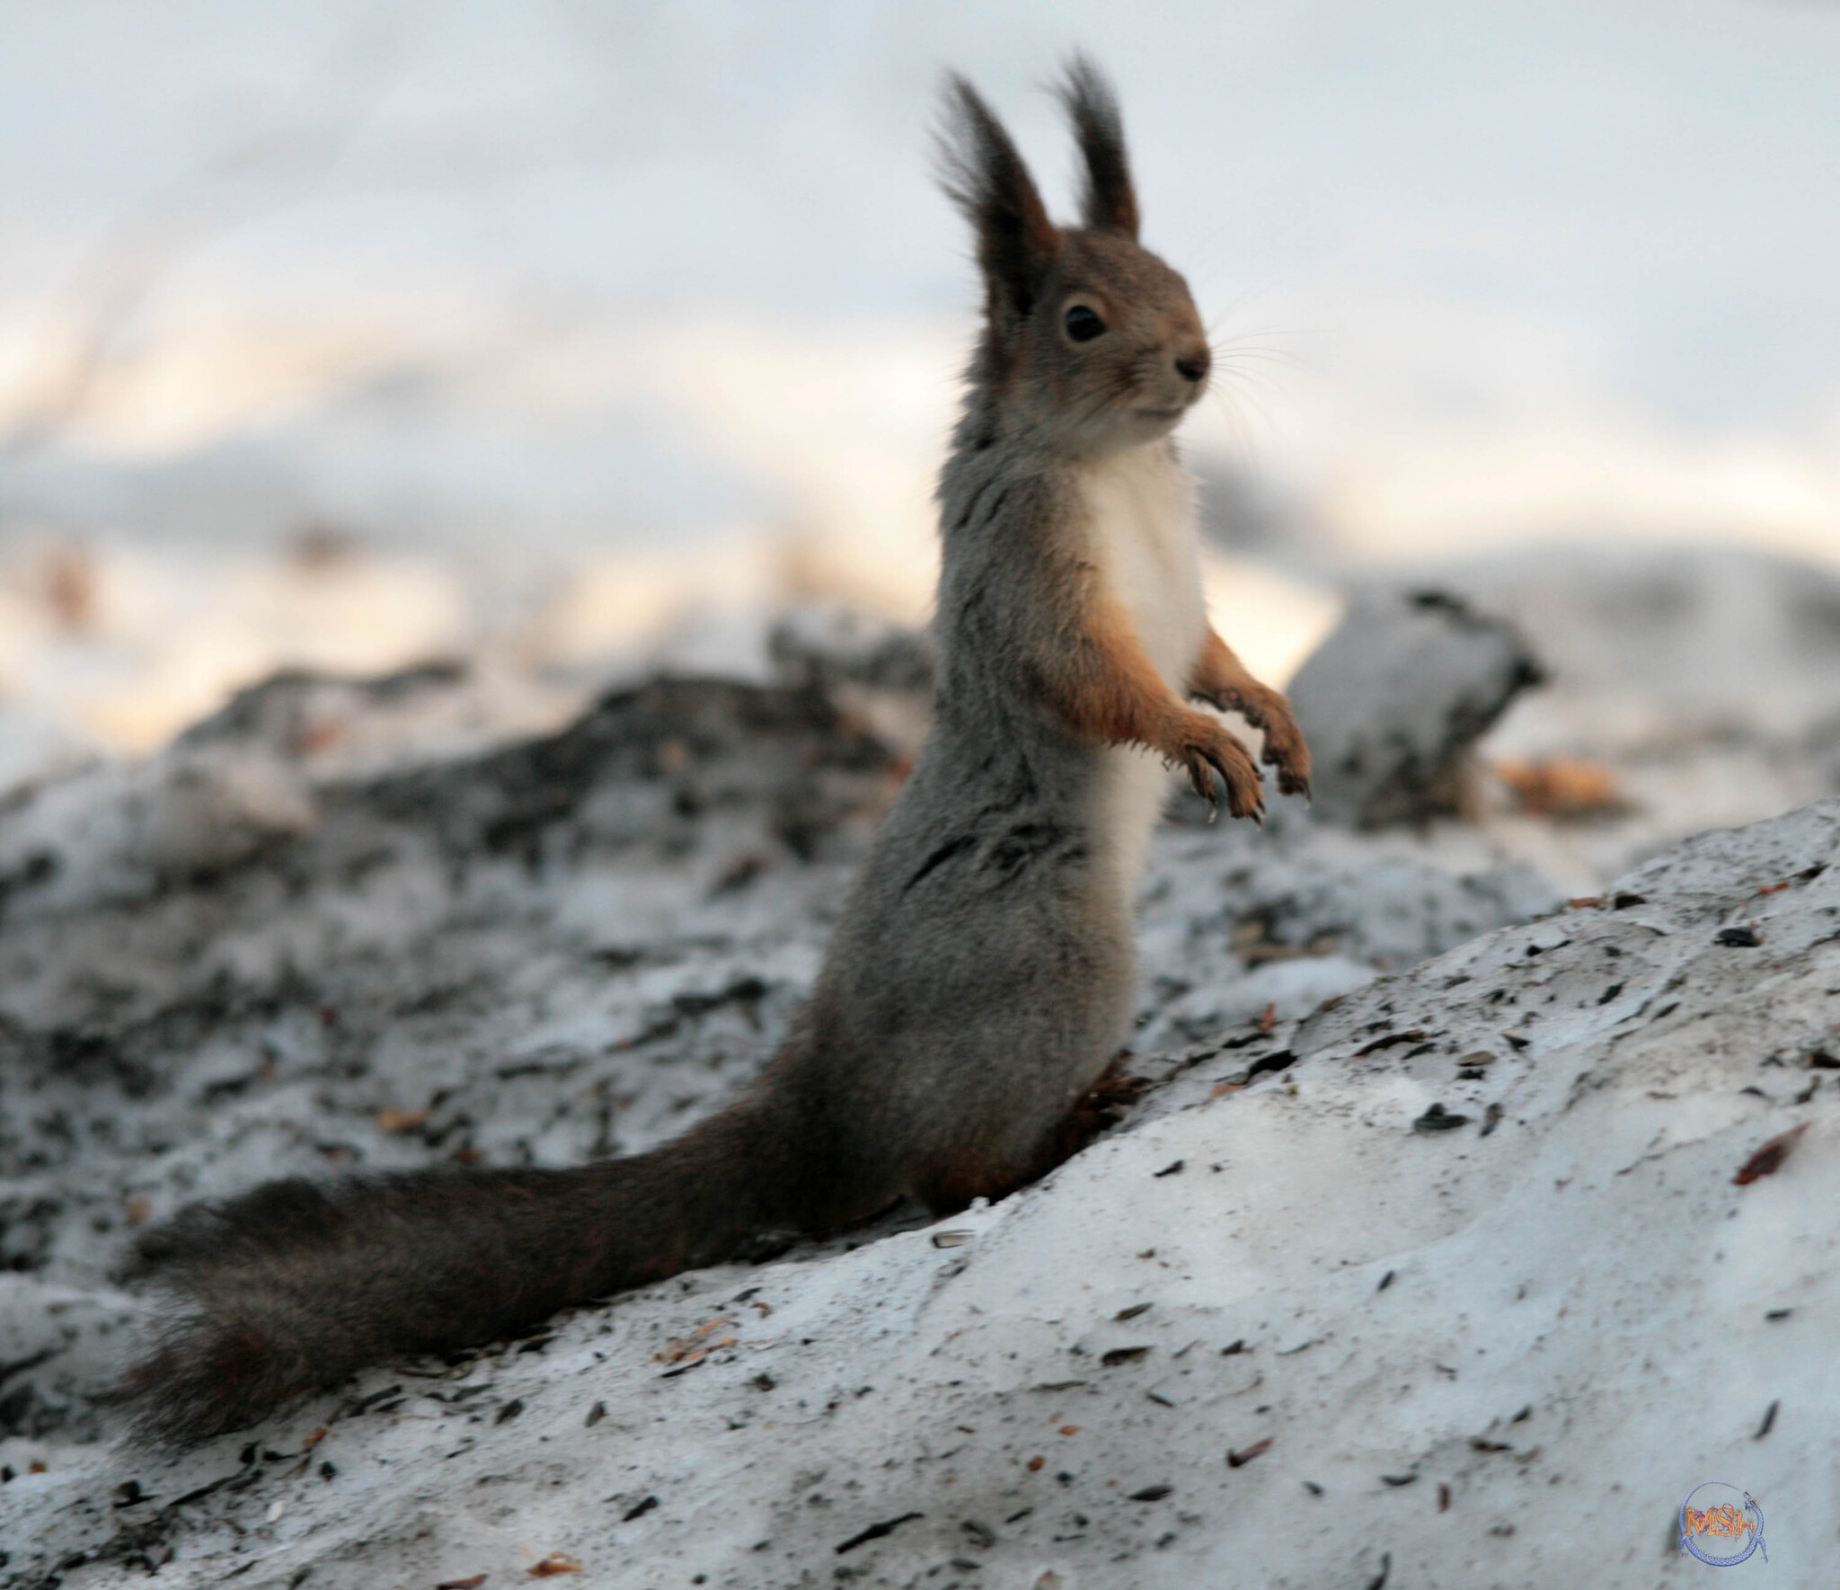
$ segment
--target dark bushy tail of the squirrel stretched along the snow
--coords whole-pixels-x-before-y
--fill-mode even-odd
[[[650,1154],[569,1170],[291,1178],[186,1209],[127,1264],[175,1303],[123,1388],[136,1434],[190,1446],[383,1358],[730,1257],[797,1224],[797,1139],[775,1115],[743,1099]]]

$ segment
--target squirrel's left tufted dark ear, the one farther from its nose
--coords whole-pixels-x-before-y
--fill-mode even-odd
[[[1025,318],[1049,261],[1060,252],[1060,230],[1047,219],[1010,134],[957,72],[946,77],[938,180],[977,232],[977,263],[994,300]]]

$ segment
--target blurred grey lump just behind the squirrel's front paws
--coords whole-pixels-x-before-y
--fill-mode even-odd
[[[1542,679],[1511,624],[1457,596],[1358,596],[1290,685],[1317,815],[1351,828],[1455,815],[1470,747]]]

